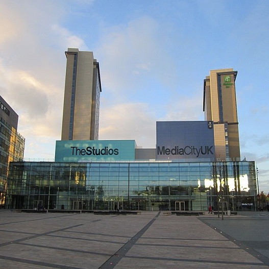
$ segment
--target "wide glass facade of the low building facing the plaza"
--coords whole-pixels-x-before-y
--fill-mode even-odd
[[[256,210],[255,162],[12,162],[6,208]]]

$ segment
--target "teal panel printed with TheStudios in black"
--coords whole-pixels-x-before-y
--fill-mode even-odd
[[[58,140],[55,161],[129,161],[135,159],[135,147],[135,140]]]

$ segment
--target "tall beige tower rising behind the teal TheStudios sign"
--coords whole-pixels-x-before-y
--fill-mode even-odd
[[[92,52],[68,48],[61,140],[97,140],[101,79]]]

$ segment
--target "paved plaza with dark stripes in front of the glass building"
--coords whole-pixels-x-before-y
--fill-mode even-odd
[[[269,214],[0,210],[0,268],[269,268]]]

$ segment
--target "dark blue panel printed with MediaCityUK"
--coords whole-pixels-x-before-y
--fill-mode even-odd
[[[213,159],[212,121],[157,121],[156,159]]]

